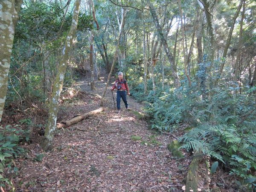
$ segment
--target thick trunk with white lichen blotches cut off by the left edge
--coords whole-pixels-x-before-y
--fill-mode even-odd
[[[0,122],[6,100],[12,44],[22,0],[0,1]]]

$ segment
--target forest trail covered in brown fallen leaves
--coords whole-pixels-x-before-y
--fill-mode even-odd
[[[86,78],[77,82],[85,93],[60,106],[57,122],[99,108],[100,97],[95,95],[102,95],[103,80],[95,81],[94,91]],[[106,110],[57,130],[52,152],[41,151],[41,136],[26,146],[27,158],[16,163],[20,169],[13,180],[17,191],[183,191],[189,160],[170,158],[167,144],[173,138],[148,129],[147,122],[133,113],[143,106],[131,96],[131,110],[121,101],[122,111],[117,114],[110,87],[105,96]],[[141,140],[131,140],[133,135]]]

